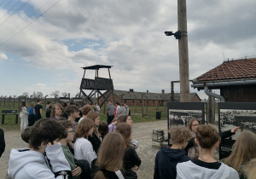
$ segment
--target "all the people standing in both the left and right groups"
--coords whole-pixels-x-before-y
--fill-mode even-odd
[[[108,101],[107,122],[100,121],[96,104],[78,107],[41,101],[20,107],[21,138],[27,146],[12,149],[6,179],[96,178],[137,179],[142,161],[138,141],[132,139],[131,112],[126,104]],[[155,156],[154,179],[234,178],[253,179],[256,170],[256,134],[241,131],[226,159],[219,161],[216,148],[240,127],[218,134],[211,125],[190,118],[188,127],[169,131],[172,146],[161,147]],[[0,129],[0,157],[5,146]]]

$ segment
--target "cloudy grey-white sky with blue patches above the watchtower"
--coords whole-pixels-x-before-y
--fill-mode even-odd
[[[177,0],[0,4],[0,95],[60,90],[74,96],[81,67],[92,65],[113,66],[116,90],[170,92],[170,82],[179,80],[178,41],[164,33],[177,31]],[[187,1],[190,79],[224,58],[256,55],[255,7],[255,0]],[[86,72],[87,78],[94,75]]]

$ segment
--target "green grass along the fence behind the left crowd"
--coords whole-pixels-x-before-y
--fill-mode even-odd
[[[35,102],[36,104],[36,102]],[[43,113],[45,113],[43,106]],[[20,130],[20,117],[18,118],[18,124],[15,124],[15,115],[5,115],[4,116],[4,124],[2,124],[2,110],[17,110],[19,112],[19,104],[15,103],[15,107],[13,103],[6,103],[6,107],[3,107],[3,103],[1,103],[0,106],[0,126],[3,128],[3,130]],[[107,107],[105,108],[105,110]],[[130,107],[131,110],[131,118],[134,123],[144,123],[144,122],[151,122],[155,121],[155,113],[156,113],[156,107],[148,107],[148,115],[145,115],[147,113],[146,107],[144,107],[144,116],[142,116],[142,107]],[[166,108],[165,107],[158,107],[158,111],[161,112],[161,119],[167,118]],[[107,116],[104,113],[104,107],[101,109],[101,120],[107,120]]]

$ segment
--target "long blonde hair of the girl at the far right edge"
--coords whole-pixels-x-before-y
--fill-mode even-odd
[[[239,171],[242,165],[256,158],[256,135],[252,131],[243,130],[232,148],[232,153],[224,159],[224,163]]]

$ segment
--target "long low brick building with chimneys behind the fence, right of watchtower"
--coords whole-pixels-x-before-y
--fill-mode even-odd
[[[113,101],[114,96],[114,101]],[[165,106],[166,102],[169,102],[171,99],[171,93],[165,93],[165,90],[162,90],[161,93],[150,93],[148,92],[135,92],[133,89],[129,91],[126,90],[113,90],[113,95],[108,97],[109,101],[119,103],[126,103],[128,106],[142,106],[144,99],[144,105],[146,106],[146,101],[148,101],[148,107],[154,106]],[[180,94],[174,94],[175,101],[179,101]],[[104,99],[102,97],[99,98],[100,103]],[[200,102],[201,99],[196,93],[190,93],[190,101],[191,102]]]

